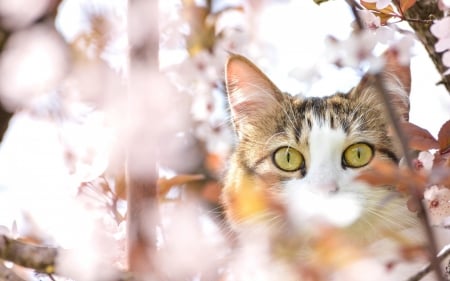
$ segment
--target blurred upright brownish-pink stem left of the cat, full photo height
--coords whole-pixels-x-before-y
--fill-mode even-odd
[[[154,261],[159,207],[157,197],[157,144],[146,143],[155,134],[147,120],[159,118],[152,108],[143,116],[147,95],[158,91],[159,30],[158,1],[129,0],[128,38],[130,44],[128,121],[134,128],[127,140],[127,248],[129,270],[142,279],[161,279]],[[144,80],[144,77],[146,78]],[[157,103],[156,101],[153,101]],[[137,113],[136,113],[137,112]],[[137,115],[137,116],[135,116]],[[153,135],[153,137],[152,137]],[[143,160],[142,155],[146,155]],[[145,172],[143,172],[145,171]]]

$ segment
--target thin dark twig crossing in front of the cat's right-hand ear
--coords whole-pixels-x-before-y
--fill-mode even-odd
[[[362,23],[362,20],[358,14],[357,7],[354,0],[346,0],[349,6],[351,7],[351,10],[353,12],[353,15],[356,19],[357,28],[359,31],[364,30],[364,24]],[[408,151],[408,142],[406,140],[405,135],[403,134],[403,131],[400,127],[400,123],[398,122],[395,114],[395,109],[393,108],[392,104],[390,103],[390,100],[387,96],[386,87],[383,83],[383,79],[380,73],[377,73],[375,76],[375,87],[377,88],[377,92],[379,93],[380,98],[382,99],[382,102],[386,108],[386,112],[388,115],[388,118],[390,119],[390,123],[393,126],[394,132],[397,135],[397,138],[400,142],[400,149],[402,151],[403,157],[405,158],[405,162],[407,164],[407,168],[413,173],[413,159]],[[442,272],[439,267],[439,262],[437,260],[437,243],[436,239],[434,238],[433,231],[430,227],[428,214],[426,212],[425,206],[422,204],[420,200],[420,195],[418,192],[418,189],[415,185],[408,185],[408,191],[409,194],[412,197],[412,200],[414,203],[416,203],[416,206],[419,206],[419,214],[421,215],[421,221],[425,229],[425,233],[428,239],[428,251],[430,255],[430,267],[435,271],[438,280],[439,281],[445,281],[444,276],[442,275]]]

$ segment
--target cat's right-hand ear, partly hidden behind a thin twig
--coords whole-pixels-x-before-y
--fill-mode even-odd
[[[401,63],[398,53],[395,50],[388,50],[384,53],[385,60],[381,71],[381,82],[388,94],[388,98],[397,113],[399,120],[409,119],[409,94],[411,90],[411,69],[410,65]],[[350,95],[366,100],[373,104],[378,100],[377,85],[373,75],[367,74],[356,86]],[[378,102],[379,103],[379,102]]]

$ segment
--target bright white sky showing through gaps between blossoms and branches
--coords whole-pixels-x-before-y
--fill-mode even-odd
[[[83,9],[93,2],[64,1],[57,24],[67,38],[73,38],[86,27]],[[110,8],[105,9],[112,12],[117,12],[117,8],[119,16],[126,14],[124,0],[95,2],[101,3],[98,4],[99,7],[109,6]],[[263,70],[282,90],[298,93],[308,88],[289,78],[290,71],[295,67],[307,69],[313,65],[323,54],[324,38],[327,35],[346,38],[350,32],[352,15],[344,1],[330,1],[322,6],[315,5],[312,0],[280,2],[263,12],[259,30],[255,30],[255,33],[260,40],[270,42],[277,51],[278,63],[270,67],[263,66]],[[123,50],[123,42],[119,42],[116,47]],[[439,76],[419,44],[414,53],[410,119],[436,136],[441,124],[450,119],[450,95],[442,86],[435,86]],[[112,60],[116,59],[120,64],[120,58],[112,57]],[[351,72],[338,71],[331,67],[325,69],[322,75],[324,78],[317,81],[305,94],[329,95],[337,90],[346,90],[357,82]],[[79,128],[78,132],[79,135],[86,136],[94,131],[95,126]],[[98,131],[96,133],[98,134]],[[91,139],[101,138],[95,136]],[[61,150],[54,127],[23,115],[16,116],[0,146],[0,193],[15,191],[15,194],[0,196],[0,206],[5,208],[8,204],[11,205],[11,202],[23,202],[25,205],[35,206],[36,210],[42,210],[46,206],[45,200],[51,200],[52,194],[67,193],[67,189],[62,188],[64,186],[73,188],[76,179],[67,175],[64,159],[60,155]],[[42,171],[45,178],[42,178]],[[47,189],[43,190],[43,187]],[[28,195],[25,201],[24,194]],[[49,214],[55,214],[55,210],[47,211],[42,213],[42,221],[49,220]],[[11,218],[17,217],[18,214],[18,209],[7,212],[3,209],[0,211],[0,225],[10,226]],[[61,215],[59,211],[56,211],[56,214]],[[57,226],[53,225],[55,231]]]

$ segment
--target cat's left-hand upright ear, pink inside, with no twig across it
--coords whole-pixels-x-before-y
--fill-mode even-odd
[[[283,94],[252,62],[231,55],[225,66],[231,116],[239,137],[247,126],[257,126],[280,108]]]

